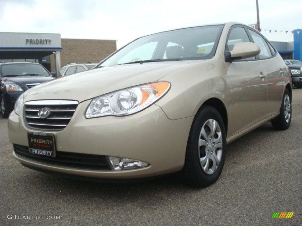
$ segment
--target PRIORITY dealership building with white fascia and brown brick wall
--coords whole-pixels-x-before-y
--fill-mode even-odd
[[[52,33],[0,33],[0,61],[38,62],[50,72],[68,63],[98,63],[116,51],[116,40],[61,39]]]

